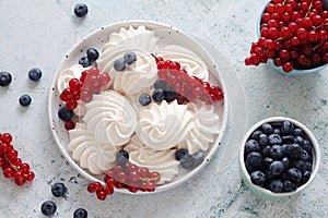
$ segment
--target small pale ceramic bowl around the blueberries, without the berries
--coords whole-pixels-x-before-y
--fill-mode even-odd
[[[250,135],[253,134],[254,131],[256,131],[258,128],[260,128],[262,124],[265,123],[272,123],[272,122],[281,122],[281,121],[290,121],[292,122],[295,126],[301,128],[305,134],[307,135],[308,140],[311,141],[312,145],[313,145],[313,169],[312,169],[312,174],[309,180],[304,183],[303,185],[301,185],[300,187],[297,187],[296,191],[294,192],[282,192],[282,193],[274,193],[271,192],[270,190],[263,189],[259,185],[256,185],[251,182],[250,180],[250,175],[247,172],[247,169],[245,167],[245,144],[247,142],[247,140],[250,137]],[[312,181],[315,179],[318,169],[319,169],[319,164],[320,164],[320,149],[319,149],[319,145],[317,140],[315,138],[314,134],[301,122],[293,120],[291,118],[285,118],[285,117],[272,117],[272,118],[268,118],[265,120],[259,121],[258,123],[256,123],[253,128],[250,128],[244,140],[243,140],[243,144],[239,150],[239,171],[241,171],[241,175],[243,181],[245,182],[245,184],[257,195],[269,198],[269,199],[277,199],[277,198],[281,198],[281,197],[286,197],[286,196],[292,196],[295,195],[300,192],[302,192],[304,189],[306,189]]]

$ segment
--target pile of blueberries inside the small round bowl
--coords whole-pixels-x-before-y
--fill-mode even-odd
[[[244,160],[254,184],[274,193],[293,192],[313,171],[313,145],[290,121],[265,123],[245,144]]]

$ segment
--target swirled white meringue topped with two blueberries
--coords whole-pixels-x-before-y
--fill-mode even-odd
[[[124,71],[116,71],[113,68],[114,62],[131,51],[137,55],[137,60],[127,64]],[[113,89],[121,95],[139,94],[157,80],[155,59],[149,52],[128,45],[117,45],[104,50],[98,59],[98,65],[102,72],[109,73]]]

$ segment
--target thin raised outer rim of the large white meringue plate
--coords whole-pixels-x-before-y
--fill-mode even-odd
[[[147,28],[152,29],[152,27],[155,29],[157,28],[165,28],[165,29],[172,29],[175,31],[179,34],[183,34],[186,38],[188,38],[188,40],[192,41],[194,45],[196,45],[198,48],[200,48],[201,52],[203,52],[203,55],[207,56],[207,58],[209,59],[209,62],[211,63],[215,63],[214,58],[211,56],[211,53],[204,48],[203,45],[201,45],[200,41],[198,41],[195,37],[192,37],[191,35],[180,31],[179,28],[176,28],[172,25],[167,25],[167,24],[163,24],[160,22],[155,22],[155,21],[147,21],[147,20],[127,20],[127,21],[120,21],[120,22],[116,22],[116,23],[110,23],[107,25],[103,25],[98,28],[95,28],[94,31],[92,31],[91,33],[86,34],[85,36],[82,37],[82,39],[78,43],[74,43],[74,45],[70,48],[70,50],[67,52],[67,55],[62,58],[62,60],[59,62],[59,65],[56,69],[56,73],[54,74],[54,80],[51,82],[51,86],[49,88],[49,94],[48,94],[48,119],[50,122],[50,129],[51,129],[51,134],[55,138],[55,142],[57,144],[57,147],[59,148],[61,155],[63,155],[65,159],[70,164],[70,166],[72,166],[79,173],[81,173],[86,180],[89,181],[97,181],[101,183],[104,183],[104,181],[95,178],[94,175],[90,174],[89,172],[86,172],[84,169],[82,169],[80,167],[80,165],[74,161],[71,157],[71,155],[69,155],[69,153],[67,153],[61,145],[61,142],[59,140],[59,136],[56,134],[56,130],[52,129],[52,102],[51,99],[54,97],[54,87],[57,87],[56,82],[58,80],[59,76],[59,71],[62,68],[62,65],[66,62],[67,57],[71,56],[77,48],[79,48],[79,46],[83,45],[83,41],[90,37],[92,37],[94,34],[97,34],[101,31],[107,29],[107,28],[120,28],[120,27],[128,27],[128,26],[136,26],[136,25],[144,25]],[[216,69],[216,70],[220,70]],[[222,86],[222,90],[225,94],[225,97],[223,98],[222,104],[224,105],[223,107],[223,111],[222,113],[224,114],[223,117],[221,117],[221,129],[222,131],[220,132],[220,134],[218,135],[218,137],[215,137],[215,141],[213,143],[213,146],[215,146],[215,149],[211,148],[207,156],[206,156],[206,160],[203,162],[201,162],[198,167],[196,167],[195,169],[192,169],[190,172],[188,172],[188,175],[179,179],[179,180],[175,180],[173,182],[169,182],[167,184],[165,184],[165,186],[159,186],[155,189],[154,192],[137,192],[137,193],[130,193],[128,192],[126,189],[116,189],[116,192],[118,193],[124,193],[124,194],[134,194],[134,195],[142,195],[142,194],[154,194],[154,193],[159,193],[159,192],[163,192],[166,190],[172,190],[183,183],[185,183],[186,181],[188,181],[189,179],[191,179],[195,174],[199,173],[199,171],[201,171],[201,169],[204,168],[204,166],[207,165],[207,162],[209,162],[209,160],[213,157],[214,153],[218,150],[216,148],[220,146],[220,143],[223,138],[224,132],[226,131],[226,126],[227,126],[227,113],[229,113],[229,101],[227,101],[227,95],[226,95],[226,88],[225,85],[223,84],[223,77],[222,75],[220,75],[220,73],[218,73],[219,71],[213,72],[212,74],[214,75],[214,77],[216,77],[218,81],[220,81],[220,84]],[[216,75],[218,74],[218,75]],[[57,89],[57,88],[55,88]]]

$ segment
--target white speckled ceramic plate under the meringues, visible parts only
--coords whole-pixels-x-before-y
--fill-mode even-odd
[[[58,148],[65,156],[65,158],[69,161],[69,164],[75,168],[84,178],[86,178],[90,181],[99,181],[103,182],[104,175],[95,175],[91,173],[89,170],[82,169],[78,162],[75,162],[71,157],[71,152],[68,149],[67,145],[69,143],[68,137],[68,131],[63,128],[63,122],[58,119],[58,109],[60,104],[62,104],[59,99],[59,93],[57,89],[57,78],[59,73],[69,66],[71,66],[74,63],[78,63],[78,60],[81,56],[83,56],[87,48],[94,47],[98,51],[102,50],[102,47],[107,43],[108,36],[112,33],[118,32],[121,27],[128,28],[129,26],[140,26],[144,25],[148,29],[154,31],[155,35],[160,38],[159,45],[179,45],[184,46],[195,53],[197,53],[207,64],[210,77],[209,82],[211,85],[219,85],[222,87],[223,92],[225,93],[224,84],[222,84],[222,77],[220,75],[220,66],[218,66],[214,62],[214,60],[210,57],[210,55],[203,49],[203,47],[196,41],[194,38],[188,36],[187,34],[172,27],[165,24],[155,23],[155,22],[148,22],[148,21],[127,21],[127,22],[120,22],[115,23],[108,26],[101,27],[86,37],[82,39],[81,43],[77,44],[68,53],[63,57],[62,62],[60,63],[57,73],[54,77],[50,93],[49,93],[49,104],[48,104],[48,112],[49,112],[49,120],[50,120],[50,129],[52,132],[52,135],[56,140],[56,143],[58,145]],[[173,189],[177,186],[178,184],[181,184],[183,182],[189,180],[192,175],[195,175],[197,172],[199,172],[207,162],[211,159],[212,155],[216,150],[227,121],[227,101],[226,96],[225,98],[218,104],[218,111],[220,116],[220,123],[218,123],[220,128],[220,133],[218,137],[215,138],[215,142],[213,145],[211,145],[211,148],[206,153],[206,160],[195,168],[191,171],[181,170],[179,174],[174,178],[174,180],[169,183],[161,184],[156,187],[155,192],[161,192],[164,190]],[[121,193],[130,193],[125,189],[119,189],[117,192]],[[143,193],[143,192],[137,192],[137,193]]]

